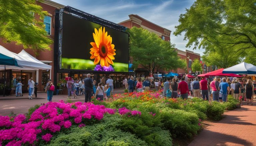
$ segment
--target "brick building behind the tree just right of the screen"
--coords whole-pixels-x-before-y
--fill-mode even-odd
[[[127,28],[132,28],[132,27],[138,27],[138,28],[143,28],[148,30],[149,32],[155,33],[156,35],[158,35],[162,40],[164,41],[170,41],[170,35],[171,35],[171,31],[163,28],[159,25],[156,25],[138,15],[134,15],[131,14],[129,15],[128,20],[125,20],[123,22],[120,22],[118,24],[123,25]],[[132,58],[131,58],[131,62],[132,62]],[[166,71],[163,70],[157,70],[155,72],[159,72],[159,73],[168,73]],[[136,76],[148,76],[149,75],[149,71],[147,71],[145,68],[143,68],[142,66],[139,66],[136,70],[135,70]]]

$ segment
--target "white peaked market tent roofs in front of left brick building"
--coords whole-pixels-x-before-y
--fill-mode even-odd
[[[4,48],[3,46],[0,45],[0,53],[3,54],[3,55],[6,55],[8,57],[15,58],[18,65],[20,67],[22,67],[22,68],[20,68],[20,67],[16,67],[16,66],[6,66],[7,70],[15,69],[15,70],[34,70],[34,71],[37,71],[37,70],[51,70],[52,69],[51,66],[40,62],[39,60],[37,60],[33,56],[29,55],[24,50],[22,50],[19,54],[16,54],[16,53],[13,53],[13,52],[7,50],[6,48]],[[0,65],[0,70],[4,70],[3,65]]]

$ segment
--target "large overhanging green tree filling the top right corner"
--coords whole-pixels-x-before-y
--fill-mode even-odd
[[[179,18],[175,36],[185,32],[186,47],[256,49],[256,0],[196,0]],[[220,39],[221,38],[221,39]]]

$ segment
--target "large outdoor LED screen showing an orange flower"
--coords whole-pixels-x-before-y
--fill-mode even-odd
[[[128,34],[66,13],[61,69],[128,72]]]

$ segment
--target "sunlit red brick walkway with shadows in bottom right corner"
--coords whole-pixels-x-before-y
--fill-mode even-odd
[[[210,123],[189,146],[256,146],[256,105],[227,111],[225,118]]]

